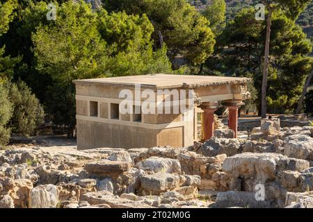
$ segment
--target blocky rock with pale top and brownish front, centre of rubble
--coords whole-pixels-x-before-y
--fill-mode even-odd
[[[141,188],[146,194],[159,195],[166,190],[179,187],[179,176],[171,173],[154,173],[141,177]]]

